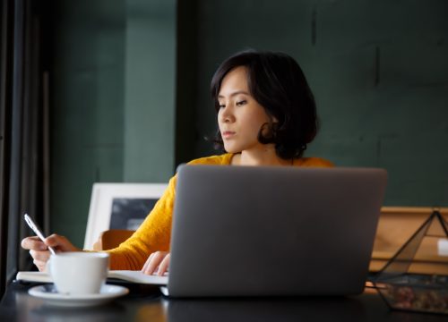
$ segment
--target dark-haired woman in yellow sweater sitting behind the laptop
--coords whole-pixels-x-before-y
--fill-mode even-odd
[[[311,89],[289,55],[245,51],[229,57],[211,80],[211,97],[219,125],[215,144],[227,153],[202,157],[190,165],[332,166],[321,158],[302,157],[318,123]],[[107,250],[111,269],[141,269],[159,275],[168,270],[176,180],[176,175],[171,178],[167,191],[133,236]],[[22,241],[39,270],[46,267],[48,246],[79,250],[57,234],[45,242],[38,237]]]

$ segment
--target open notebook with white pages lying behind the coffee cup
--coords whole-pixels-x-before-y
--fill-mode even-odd
[[[108,278],[115,278],[135,284],[168,284],[168,275],[145,275],[141,271],[131,270],[109,270]],[[46,272],[22,271],[17,273],[16,280],[37,283],[53,283],[51,276]]]

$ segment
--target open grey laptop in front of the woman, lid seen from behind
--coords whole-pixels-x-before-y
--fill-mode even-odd
[[[181,165],[162,292],[363,292],[386,180],[375,168]]]

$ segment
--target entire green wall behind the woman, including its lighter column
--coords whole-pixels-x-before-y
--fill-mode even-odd
[[[306,151],[389,171],[386,205],[448,206],[448,2],[55,2],[51,228],[82,245],[93,182],[166,182],[213,153],[218,64],[284,51],[314,90]]]

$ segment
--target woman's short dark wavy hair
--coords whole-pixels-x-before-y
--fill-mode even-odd
[[[250,94],[278,121],[271,124],[267,136],[263,135],[262,127],[258,140],[263,144],[274,143],[277,155],[283,159],[302,157],[306,144],[317,134],[318,119],[313,93],[300,66],[283,53],[247,50],[230,56],[211,79],[211,97],[217,113],[221,82],[238,66],[247,69]],[[219,129],[213,141],[215,148],[223,149]]]

